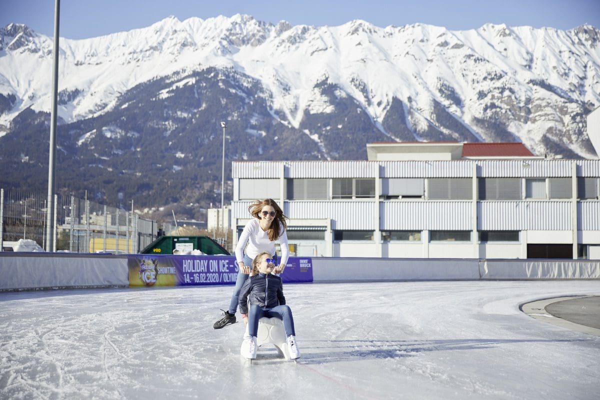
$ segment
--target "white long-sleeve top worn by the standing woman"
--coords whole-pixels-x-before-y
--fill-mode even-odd
[[[246,246],[246,243],[248,246]],[[287,247],[287,232],[281,224],[279,224],[279,243],[281,245],[281,259],[279,262],[285,265],[287,264],[287,258],[290,256],[290,251]],[[269,239],[268,231],[262,230],[258,218],[250,219],[239,236],[238,245],[235,246],[235,259],[238,263],[244,261],[244,248],[248,257],[253,260],[263,251],[275,255],[275,242]],[[250,266],[248,265],[248,267]]]

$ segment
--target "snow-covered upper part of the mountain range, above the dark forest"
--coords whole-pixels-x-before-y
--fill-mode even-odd
[[[599,44],[600,31],[589,25],[449,31],[362,20],[315,27],[241,14],[168,17],[103,37],[61,38],[59,117],[102,115],[157,77],[179,74],[176,89],[193,83],[186,80],[193,71],[232,68],[259,81],[277,118],[296,129],[307,113],[336,112],[320,90],[327,84],[338,98],[352,97],[391,140],[406,140],[385,123],[400,101],[413,140],[434,140],[427,134],[434,129],[455,140],[521,140],[538,154],[557,152],[548,143],[560,143],[595,157],[584,117],[600,105]],[[51,70],[52,38],[23,25],[0,29],[0,136],[22,110],[50,110]]]

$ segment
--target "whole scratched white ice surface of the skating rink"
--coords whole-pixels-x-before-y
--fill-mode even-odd
[[[0,293],[0,398],[599,398],[600,337],[519,305],[600,281],[285,284],[302,358],[251,365],[232,290]]]

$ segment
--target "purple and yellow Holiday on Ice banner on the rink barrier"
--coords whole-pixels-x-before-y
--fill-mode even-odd
[[[233,285],[238,265],[232,255],[129,255],[130,287]],[[280,275],[284,283],[312,282],[310,257],[290,257]]]

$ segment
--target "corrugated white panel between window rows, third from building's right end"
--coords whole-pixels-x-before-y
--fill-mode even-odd
[[[381,230],[471,230],[470,201],[385,201]]]

